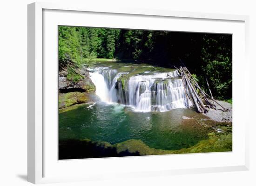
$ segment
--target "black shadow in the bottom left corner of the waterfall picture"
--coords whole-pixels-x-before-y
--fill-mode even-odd
[[[128,150],[118,153],[115,147],[106,147],[104,144],[92,141],[59,141],[59,160],[138,155],[139,152],[130,153]]]

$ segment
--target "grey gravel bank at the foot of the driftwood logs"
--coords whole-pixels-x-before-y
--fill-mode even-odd
[[[203,115],[208,116],[210,119],[216,121],[216,122],[232,122],[232,104],[227,103],[224,101],[218,101],[216,100],[219,104],[221,104],[225,108],[229,108],[228,111],[223,112],[222,107],[217,105],[217,110],[215,109],[210,109],[208,113]]]

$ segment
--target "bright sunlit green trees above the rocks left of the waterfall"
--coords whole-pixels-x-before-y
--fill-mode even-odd
[[[68,72],[68,79],[81,79],[76,72],[81,65],[87,67],[96,58],[114,58],[115,46],[120,30],[59,26],[59,67]]]

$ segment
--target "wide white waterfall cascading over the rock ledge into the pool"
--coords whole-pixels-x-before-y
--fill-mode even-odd
[[[192,105],[177,71],[144,73],[122,79],[120,77],[128,72],[96,67],[89,74],[96,95],[104,102],[129,105],[141,112],[164,112]]]

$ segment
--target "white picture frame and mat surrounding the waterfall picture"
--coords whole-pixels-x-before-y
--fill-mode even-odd
[[[246,115],[248,113],[243,112],[239,109],[239,105],[249,104],[249,97],[245,96],[245,92],[248,91],[247,85],[249,82],[246,79],[249,79],[249,70],[247,68],[243,68],[241,70],[241,64],[238,63],[239,60],[243,60],[243,65],[249,65],[248,60],[248,52],[249,52],[249,16],[243,15],[225,15],[225,14],[210,14],[210,13],[193,13],[193,12],[175,12],[169,10],[148,10],[148,9],[136,9],[136,8],[113,8],[113,9],[106,9],[101,7],[85,7],[77,4],[72,3],[61,3],[61,4],[53,4],[53,3],[43,3],[43,2],[36,2],[28,5],[28,181],[32,183],[50,183],[50,182],[62,182],[62,181],[79,181],[79,180],[97,180],[97,179],[107,179],[111,178],[108,174],[108,169],[106,170],[91,170],[87,172],[86,175],[83,174],[72,174],[67,170],[64,170],[64,167],[70,169],[71,167],[76,167],[78,164],[85,163],[85,160],[69,160],[69,161],[58,161],[57,157],[53,157],[54,155],[51,153],[45,153],[45,151],[50,152],[56,146],[49,147],[47,141],[52,139],[56,139],[56,129],[53,128],[51,130],[50,127],[46,127],[46,124],[49,122],[49,119],[53,119],[56,121],[56,113],[54,110],[52,111],[52,116],[47,116],[47,111],[45,110],[47,106],[49,106],[48,102],[52,100],[48,100],[48,94],[51,92],[46,92],[50,90],[47,83],[49,79],[54,79],[55,75],[57,77],[56,65],[54,66],[53,71],[48,71],[48,64],[44,64],[44,60],[47,58],[48,49],[46,50],[44,45],[48,45],[49,41],[44,41],[49,36],[48,28],[51,28],[51,24],[53,26],[59,25],[63,22],[58,22],[60,19],[64,19],[65,15],[68,13],[69,22],[65,22],[64,24],[72,25],[72,26],[86,26],[86,25],[79,25],[80,20],[77,22],[72,23],[72,18],[76,16],[81,16],[86,13],[95,14],[102,16],[111,16],[113,19],[117,18],[118,16],[123,16],[123,19],[132,19],[136,18],[138,20],[146,20],[157,18],[159,24],[161,25],[161,20],[166,19],[175,19],[175,21],[194,21],[195,28],[183,28],[180,27],[176,23],[177,27],[175,31],[187,31],[187,32],[200,32],[198,29],[200,25],[208,24],[210,22],[209,27],[205,29],[201,29],[201,32],[218,32],[218,33],[235,33],[235,40],[233,42],[233,93],[234,93],[234,101],[233,101],[233,113],[234,114],[234,121],[233,122],[240,122],[244,118],[249,118]],[[58,16],[59,15],[59,16]],[[45,17],[44,17],[45,16]],[[74,17],[73,17],[74,16]],[[86,15],[85,15],[86,16]],[[49,19],[51,18],[51,19]],[[80,22],[79,22],[80,21]],[[50,23],[51,22],[51,23]],[[132,21],[131,21],[132,22]],[[136,21],[135,21],[136,22]],[[49,23],[49,25],[47,25]],[[128,24],[128,22],[119,23],[119,28],[124,28],[124,24]],[[139,22],[138,22],[139,23]],[[154,21],[152,22],[154,23]],[[155,22],[156,23],[156,22]],[[189,23],[189,22],[187,22]],[[230,23],[229,28],[225,28],[227,23]],[[97,23],[95,23],[97,24]],[[109,27],[118,27],[118,23],[116,25],[111,25],[112,23],[106,23],[109,25],[99,25],[99,27],[109,26]],[[134,23],[135,24],[135,23]],[[137,24],[138,26],[142,26],[141,28],[145,28],[147,25],[147,21],[145,21],[144,25]],[[194,24],[194,23],[193,23]],[[198,27],[196,27],[198,24]],[[223,27],[217,26],[216,29],[211,28],[210,25],[218,25],[222,24]],[[234,27],[232,27],[234,25]],[[97,26],[94,23],[88,26]],[[130,28],[138,28],[138,26],[132,26]],[[144,27],[143,27],[144,26]],[[154,25],[153,25],[154,26]],[[149,27],[150,29],[157,29],[160,27]],[[186,25],[188,27],[188,25]],[[128,26],[129,27],[129,26]],[[236,29],[237,28],[237,29]],[[55,27],[53,28],[55,29]],[[168,27],[161,27],[163,30],[169,30]],[[161,30],[160,29],[160,30]],[[227,29],[225,31],[225,29]],[[229,31],[228,31],[229,29]],[[233,29],[233,31],[232,31]],[[50,33],[50,32],[49,32]],[[56,32],[57,33],[57,32]],[[56,34],[55,33],[55,34]],[[51,31],[51,34],[54,33]],[[51,35],[50,34],[50,35]],[[55,38],[54,38],[55,39]],[[55,40],[56,41],[56,40]],[[45,42],[45,43],[44,43]],[[50,41],[54,42],[54,41]],[[239,45],[238,45],[239,44]],[[56,49],[57,44],[55,43],[52,45],[53,48],[50,48],[54,54],[52,59],[56,59]],[[237,48],[236,48],[237,47]],[[240,47],[240,48],[239,48]],[[47,47],[48,48],[48,47]],[[55,50],[56,49],[56,50]],[[240,50],[242,49],[242,51]],[[239,59],[239,60],[238,60]],[[57,64],[57,60],[56,60]],[[242,71],[242,75],[238,75],[237,72],[240,70]],[[55,75],[54,75],[55,73]],[[48,79],[48,80],[47,80]],[[57,78],[56,78],[57,79]],[[57,80],[56,80],[57,81]],[[56,86],[56,81],[54,80],[55,84],[51,84],[49,86]],[[242,83],[243,88],[241,90],[237,88],[237,84]],[[55,87],[57,89],[57,87]],[[56,92],[52,92],[55,96],[53,99],[56,98]],[[56,102],[57,105],[57,102]],[[248,106],[248,105],[247,105]],[[55,114],[55,116],[54,116]],[[52,118],[51,118],[52,117]],[[54,119],[55,118],[55,119]],[[127,167],[127,170],[110,170],[109,172],[111,175],[118,175],[120,177],[138,177],[138,176],[153,176],[153,175],[171,175],[171,174],[186,174],[186,173],[209,173],[209,172],[222,172],[222,171],[238,171],[238,170],[249,170],[249,120],[243,119],[243,125],[234,125],[234,134],[233,135],[233,152],[229,153],[209,153],[209,154],[180,154],[180,155],[161,155],[161,156],[149,156],[149,157],[125,157],[125,158],[105,158],[105,159],[94,159],[94,160],[86,160],[86,164],[88,166],[91,165],[101,165],[104,164],[106,166],[112,166],[115,169],[115,166],[118,164],[133,164],[141,165],[136,167],[136,171],[132,169],[132,167]],[[55,122],[53,122],[55,123]],[[56,124],[56,123],[55,123]],[[54,124],[54,125],[55,125]],[[46,134],[47,133],[47,134]],[[240,134],[241,133],[241,134]],[[236,135],[237,134],[237,135]],[[47,139],[46,136],[47,135]],[[55,138],[51,138],[55,136]],[[49,137],[50,136],[50,137]],[[49,138],[49,139],[48,139]],[[51,139],[50,139],[51,138]],[[239,144],[236,143],[236,138],[239,138]],[[55,141],[57,143],[57,141]],[[54,143],[55,144],[55,143]],[[56,145],[56,144],[55,144]],[[48,149],[49,148],[49,149]],[[238,150],[240,149],[240,150]],[[181,157],[181,158],[180,158]],[[193,164],[188,166],[182,166],[181,163],[172,164],[173,166],[170,167],[167,163],[163,163],[162,165],[158,165],[157,162],[165,161],[165,162],[172,162],[172,161],[179,161],[188,159],[187,157],[191,158],[191,161],[200,160],[202,164],[208,158],[211,158],[212,164],[205,164],[205,166],[195,166]],[[207,158],[205,158],[207,157]],[[219,159],[223,159],[223,162],[217,163]],[[52,165],[51,160],[54,160],[56,164]],[[175,160],[174,160],[175,159]],[[230,161],[229,161],[230,159]],[[226,163],[224,160],[227,160]],[[148,163],[152,165],[147,167]],[[214,166],[216,163],[216,166]],[[198,163],[200,164],[200,163]],[[56,165],[56,166],[55,166]],[[143,168],[143,166],[144,168]],[[51,167],[52,166],[52,167]],[[55,166],[55,167],[54,167]],[[161,167],[162,166],[162,167]],[[168,167],[169,166],[169,167]],[[46,168],[47,167],[47,168]],[[117,167],[116,167],[117,168]],[[118,167],[121,169],[121,167]],[[47,170],[53,170],[52,173],[47,173]],[[62,171],[56,171],[56,170]],[[78,168],[79,170],[79,168]],[[50,171],[49,171],[50,172]],[[53,172],[58,172],[59,174],[54,174]]]

